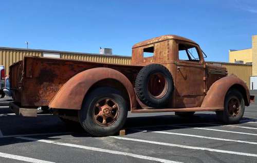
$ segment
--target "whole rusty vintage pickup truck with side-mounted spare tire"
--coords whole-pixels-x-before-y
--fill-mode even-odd
[[[205,56],[194,41],[163,35],[135,44],[132,65],[24,57],[10,66],[10,108],[22,116],[49,108],[94,136],[117,133],[128,111],[214,111],[224,123],[237,123],[254,96],[226,68],[207,65]]]

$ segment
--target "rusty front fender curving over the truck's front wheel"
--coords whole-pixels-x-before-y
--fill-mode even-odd
[[[215,81],[207,92],[201,107],[224,108],[224,101],[229,88],[234,87],[240,90],[244,96],[245,105],[250,103],[249,89],[243,80],[234,75],[227,76]]]

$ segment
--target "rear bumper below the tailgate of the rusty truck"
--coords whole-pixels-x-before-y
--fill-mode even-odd
[[[36,117],[38,112],[36,108],[23,108],[16,105],[14,102],[10,102],[9,108],[16,115],[20,115],[23,117]]]

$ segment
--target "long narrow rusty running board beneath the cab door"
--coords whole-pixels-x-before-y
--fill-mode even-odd
[[[158,112],[204,112],[223,111],[220,107],[187,107],[187,108],[142,108],[132,110],[131,113],[158,113]]]

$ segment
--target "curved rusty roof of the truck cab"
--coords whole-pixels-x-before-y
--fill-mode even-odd
[[[198,45],[196,42],[189,40],[187,38],[180,37],[178,35],[162,35],[157,38],[152,38],[149,40],[139,42],[139,43],[135,44],[132,48],[137,48],[137,47],[141,47],[141,46],[145,46],[145,45],[149,45],[149,44],[153,44],[153,43],[157,43],[157,42],[161,42],[161,41],[171,40],[171,39],[187,41],[187,42],[191,42],[191,43]]]

